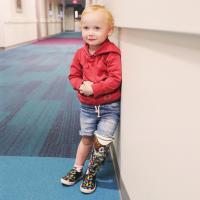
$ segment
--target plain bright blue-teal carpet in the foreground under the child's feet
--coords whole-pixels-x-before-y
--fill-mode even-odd
[[[74,160],[52,157],[0,157],[0,200],[118,200],[119,193],[111,161],[99,172],[98,189],[80,192],[80,183],[66,187],[59,178]]]

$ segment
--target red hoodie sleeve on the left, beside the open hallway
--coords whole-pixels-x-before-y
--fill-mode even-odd
[[[82,67],[80,64],[80,51],[78,50],[72,60],[71,66],[70,66],[70,73],[68,76],[72,87],[74,90],[79,90],[83,78],[82,78]]]

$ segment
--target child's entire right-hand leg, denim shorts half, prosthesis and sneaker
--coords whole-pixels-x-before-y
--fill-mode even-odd
[[[120,119],[120,102],[104,104],[97,108],[98,123],[94,133],[93,151],[83,183],[80,186],[80,190],[84,193],[91,193],[96,189],[96,173],[106,159]]]

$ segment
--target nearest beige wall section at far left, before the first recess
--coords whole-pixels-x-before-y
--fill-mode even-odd
[[[35,1],[22,1],[22,12],[16,12],[14,0],[2,1],[1,12],[4,15],[4,47],[35,40],[36,16]]]

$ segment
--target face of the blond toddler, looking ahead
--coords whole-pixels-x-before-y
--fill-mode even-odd
[[[107,17],[99,11],[85,14],[81,28],[83,40],[93,49],[97,49],[112,34]]]

